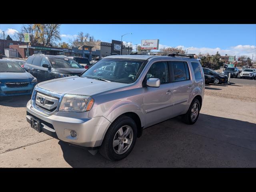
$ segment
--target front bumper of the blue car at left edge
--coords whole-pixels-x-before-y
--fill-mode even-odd
[[[35,83],[30,83],[26,87],[9,88],[6,85],[0,86],[0,96],[30,95]]]

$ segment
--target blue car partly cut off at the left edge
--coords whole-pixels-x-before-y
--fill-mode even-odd
[[[37,79],[12,60],[0,59],[0,96],[32,94]]]

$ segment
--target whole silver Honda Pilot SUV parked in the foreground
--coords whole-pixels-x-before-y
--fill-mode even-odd
[[[121,160],[149,126],[180,115],[194,124],[204,82],[190,56],[108,56],[79,76],[39,83],[26,118],[38,132]]]

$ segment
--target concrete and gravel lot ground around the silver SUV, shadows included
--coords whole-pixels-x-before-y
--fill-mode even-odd
[[[256,167],[256,81],[231,82],[206,87],[194,125],[176,117],[147,128],[119,162],[30,128],[25,108],[30,96],[1,98],[0,167]],[[248,98],[232,97],[238,88]]]

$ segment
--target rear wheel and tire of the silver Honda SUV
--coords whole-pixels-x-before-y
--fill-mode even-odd
[[[190,107],[188,108],[188,111],[182,116],[182,121],[188,125],[194,124],[198,119],[199,112],[200,102],[198,99],[194,98],[190,104]]]

